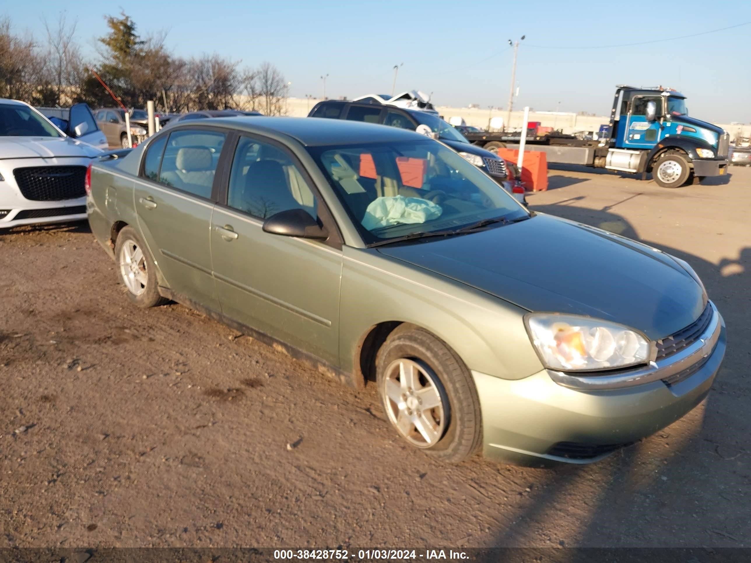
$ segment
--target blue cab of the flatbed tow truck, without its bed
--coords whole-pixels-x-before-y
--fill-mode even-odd
[[[625,172],[653,172],[663,187],[704,176],[722,176],[730,137],[722,128],[693,119],[686,96],[673,89],[616,87],[608,152],[594,165]]]

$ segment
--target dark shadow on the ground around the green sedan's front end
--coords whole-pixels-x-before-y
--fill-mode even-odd
[[[572,197],[532,209],[611,230],[686,260],[725,318],[730,335],[725,360],[707,399],[655,435],[592,465],[538,470],[539,486],[514,513],[514,525],[496,535],[494,546],[526,547],[527,555],[560,561],[583,560],[578,558],[581,552],[559,550],[572,545],[739,546],[749,535],[745,525],[735,522],[749,510],[743,498],[726,493],[747,486],[747,470],[742,471],[746,477],[737,474],[743,466],[738,459],[751,454],[747,438],[751,423],[744,415],[749,352],[741,344],[751,339],[747,322],[751,301],[746,298],[746,306],[739,302],[751,287],[751,247],[741,248],[737,259],[711,263],[642,239],[626,218],[611,211],[617,204],[599,210],[572,205],[581,199]],[[680,537],[676,536],[677,514],[681,515]],[[566,519],[571,523],[561,528],[560,522]],[[613,543],[605,540],[608,537],[618,539]],[[690,539],[684,543],[686,537]]]

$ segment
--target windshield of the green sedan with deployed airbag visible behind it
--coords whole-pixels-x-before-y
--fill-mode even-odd
[[[489,176],[430,139],[308,151],[366,244],[529,216]]]

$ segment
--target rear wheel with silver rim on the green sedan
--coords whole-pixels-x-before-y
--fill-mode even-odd
[[[131,303],[143,309],[164,305],[159,294],[156,265],[133,227],[123,227],[115,244],[117,273]]]

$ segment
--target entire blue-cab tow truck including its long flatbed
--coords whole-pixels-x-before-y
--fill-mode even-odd
[[[521,133],[466,134],[490,152],[518,149]],[[556,131],[526,132],[526,150],[544,152],[548,162],[581,164],[641,174],[652,173],[663,188],[724,176],[730,136],[722,128],[688,116],[686,96],[674,89],[616,86],[610,126],[597,140],[580,140]]]

